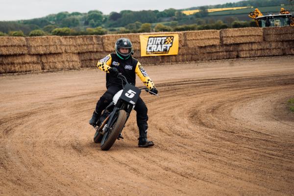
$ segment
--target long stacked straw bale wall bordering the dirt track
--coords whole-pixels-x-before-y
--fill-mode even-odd
[[[179,35],[178,55],[141,57],[140,35]],[[129,38],[143,65],[294,55],[294,27],[240,28],[102,36],[0,37],[0,73],[94,68]]]

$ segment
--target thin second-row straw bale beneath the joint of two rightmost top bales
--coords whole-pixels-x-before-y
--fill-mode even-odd
[[[236,45],[238,51],[248,50],[261,50],[261,49],[281,49],[283,48],[282,42],[259,42]]]

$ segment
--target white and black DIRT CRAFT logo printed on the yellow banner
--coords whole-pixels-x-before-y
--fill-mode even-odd
[[[167,54],[173,43],[173,36],[149,37],[146,54]]]

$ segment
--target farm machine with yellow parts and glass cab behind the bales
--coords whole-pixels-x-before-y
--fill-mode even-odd
[[[277,15],[264,16],[258,8],[248,15],[253,18],[258,27],[268,26],[294,26],[294,17],[288,10],[281,8],[280,13]]]

